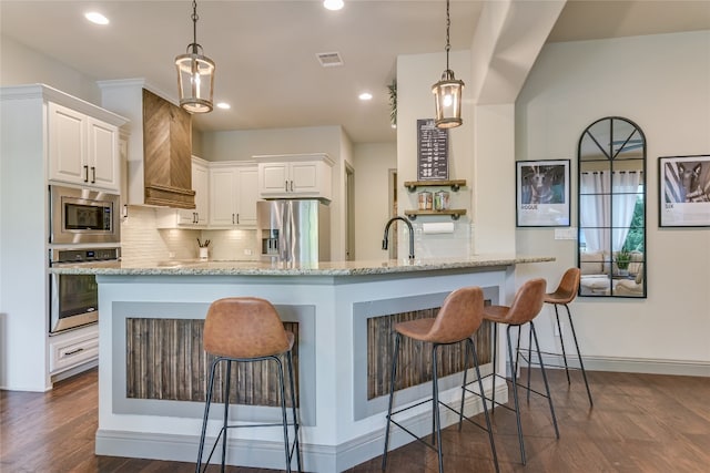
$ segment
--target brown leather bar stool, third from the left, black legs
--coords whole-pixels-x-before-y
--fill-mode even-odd
[[[517,353],[519,350],[516,349],[516,357],[513,357],[513,345],[510,341],[510,329],[517,327],[518,333],[517,339],[519,342],[520,339],[520,327],[528,323],[530,326],[530,333],[535,338],[535,347],[538,356],[538,360],[540,363],[540,370],[542,371],[542,380],[545,382],[546,393],[541,393],[528,388],[528,392],[532,391],[537,394],[540,394],[547,398],[550,405],[550,414],[552,415],[552,424],[555,425],[555,435],[559,439],[559,430],[557,428],[557,417],[555,415],[555,408],[552,407],[552,398],[550,395],[550,388],[547,382],[547,374],[545,373],[545,364],[542,363],[542,356],[540,354],[540,347],[537,340],[537,332],[535,331],[535,323],[532,319],[537,317],[542,308],[542,304],[545,300],[545,279],[530,279],[523,284],[520,288],[516,291],[515,298],[513,299],[513,304],[508,306],[487,306],[484,308],[484,320],[488,320],[493,322],[494,327],[494,342],[493,342],[493,366],[494,366],[494,374],[493,374],[493,408],[496,408],[496,378],[503,378],[500,374],[496,374],[496,356],[497,356],[497,345],[498,345],[498,325],[504,323],[507,326],[506,335],[508,340],[508,358],[511,363],[513,376],[510,377],[510,382],[513,384],[513,400],[516,417],[516,423],[518,428],[518,442],[520,443],[520,461],[525,464],[525,443],[523,441],[523,425],[520,423],[520,403],[518,400],[518,383],[516,381],[517,371],[518,371],[518,358]],[[525,387],[524,387],[525,388]],[[510,409],[506,404],[498,403],[498,405]]]

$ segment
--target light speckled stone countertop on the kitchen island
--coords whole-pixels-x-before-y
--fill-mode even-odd
[[[62,275],[115,276],[367,276],[412,271],[436,271],[510,266],[524,263],[554,261],[550,256],[476,255],[468,258],[423,258],[389,260],[322,261],[314,265],[236,261],[236,260],[162,260],[97,261],[50,268]]]

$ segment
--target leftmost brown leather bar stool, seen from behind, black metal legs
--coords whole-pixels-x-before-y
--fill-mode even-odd
[[[286,471],[291,472],[293,456],[296,456],[298,471],[301,471],[301,453],[298,445],[298,418],[296,414],[296,397],[293,379],[293,360],[291,349],[294,343],[293,333],[284,330],[284,326],[278,318],[274,306],[267,300],[254,297],[232,297],[219,299],[212,302],[204,321],[203,333],[204,350],[215,356],[210,368],[210,380],[207,383],[207,395],[202,421],[202,435],[200,436],[200,449],[197,453],[197,464],[195,472],[200,473],[202,455],[204,450],[205,432],[207,429],[207,418],[210,415],[210,404],[212,403],[212,389],[214,376],[220,363],[226,362],[226,374],[224,377],[224,420],[220,434],[214,441],[210,456],[205,462],[205,470],[210,464],[212,454],[222,438],[222,471],[226,456],[226,433],[227,429],[234,428],[260,428],[283,425],[284,451],[286,454]],[[286,394],[284,387],[284,369],[280,356],[286,356],[288,368],[288,381],[291,387],[292,420],[286,419]],[[230,410],[230,378],[233,362],[253,362],[272,360],[276,363],[278,372],[278,394],[281,399],[281,423],[229,425]],[[288,426],[293,428],[294,441],[288,441]]]

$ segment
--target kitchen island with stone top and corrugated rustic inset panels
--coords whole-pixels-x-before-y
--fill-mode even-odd
[[[285,265],[255,261],[145,261],[113,267],[57,269],[95,274],[99,282],[99,429],[97,454],[194,462],[204,408],[210,359],[202,350],[202,323],[210,304],[222,297],[270,300],[294,348],[302,453],[307,471],[339,472],[382,454],[387,409],[392,326],[413,317],[433,317],[452,290],[480,286],[491,304],[509,302],[518,264],[549,257],[474,256],[465,260],[335,261]],[[501,331],[503,333],[504,331]],[[490,332],[477,333],[479,353],[490,372]],[[499,347],[504,346],[499,343]],[[423,362],[420,350],[402,357]],[[453,349],[442,370],[442,400],[460,395],[463,356]],[[500,359],[500,358],[499,358]],[[499,363],[498,371],[504,369]],[[410,370],[398,381],[396,403],[430,393],[429,373]],[[237,373],[233,395],[239,422],[277,419],[268,395],[271,373],[250,368]],[[402,384],[400,384],[402,383]],[[490,384],[485,389],[490,390]],[[506,388],[496,387],[506,399]],[[460,398],[459,398],[460,399]],[[219,407],[217,407],[219,408]],[[467,414],[480,411],[477,399]],[[220,409],[207,429],[219,432]],[[429,408],[412,409],[413,430],[430,429]],[[454,419],[443,414],[443,423]],[[390,448],[410,439],[395,430]],[[227,463],[283,469],[282,431],[231,431]]]

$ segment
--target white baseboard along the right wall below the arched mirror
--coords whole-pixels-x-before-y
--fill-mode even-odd
[[[532,359],[537,359],[535,351],[532,351]],[[561,354],[542,353],[542,362],[546,368],[557,369],[565,366]],[[567,353],[567,362],[570,367],[579,368],[579,360],[574,351],[571,354]],[[587,371],[710,377],[710,362],[703,361],[582,356],[582,362]]]

